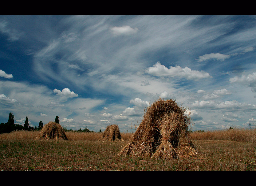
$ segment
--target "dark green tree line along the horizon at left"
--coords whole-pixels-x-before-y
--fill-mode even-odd
[[[59,116],[55,117],[55,123],[60,123],[59,120]],[[14,124],[14,115],[13,113],[9,113],[9,117],[8,117],[8,121],[6,123],[1,123],[0,124],[0,134],[2,133],[9,133],[12,131],[16,131],[16,130],[25,130],[25,131],[39,131],[43,128],[44,123],[42,121],[39,121],[38,127],[32,127],[29,126],[29,118],[26,117],[26,120],[24,122],[24,126],[23,125],[19,125],[19,124]],[[72,132],[93,132],[90,131],[87,127],[84,128],[83,130],[80,128],[79,130],[72,130],[72,129],[67,129],[67,127],[63,128],[64,131],[72,131]],[[100,131],[101,132],[101,131]]]

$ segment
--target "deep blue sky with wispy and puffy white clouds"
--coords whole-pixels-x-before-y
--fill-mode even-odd
[[[0,122],[134,132],[159,99],[192,130],[256,124],[256,16],[0,16]]]

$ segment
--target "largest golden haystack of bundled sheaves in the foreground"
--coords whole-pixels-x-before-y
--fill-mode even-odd
[[[158,99],[145,110],[142,122],[119,155],[151,158],[195,156],[197,150],[188,132],[191,118],[175,100]]]

